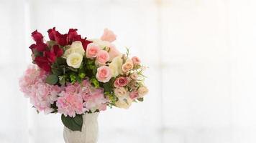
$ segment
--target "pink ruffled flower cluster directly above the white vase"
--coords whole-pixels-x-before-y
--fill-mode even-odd
[[[83,80],[82,84],[68,84],[59,94],[56,102],[58,112],[65,116],[75,117],[76,114],[83,112],[95,112],[106,110],[107,99],[104,98],[103,89],[94,88],[88,82]]]

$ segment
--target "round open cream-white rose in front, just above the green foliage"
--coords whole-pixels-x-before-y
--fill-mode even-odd
[[[71,53],[68,55],[67,64],[78,69],[83,61],[83,56],[79,53]]]

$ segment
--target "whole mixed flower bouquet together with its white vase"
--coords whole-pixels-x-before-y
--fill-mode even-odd
[[[33,31],[32,63],[19,80],[21,91],[37,112],[60,113],[65,142],[96,142],[97,117],[106,107],[128,109],[142,102],[148,89],[137,56],[129,58],[104,29],[100,39],[82,38],[77,29],[47,31],[49,41]]]

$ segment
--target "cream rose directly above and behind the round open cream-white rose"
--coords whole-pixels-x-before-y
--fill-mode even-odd
[[[79,53],[82,56],[84,56],[85,52],[86,51],[84,51],[83,44],[81,43],[81,41],[73,41],[73,43],[70,45],[70,48],[65,50],[63,57],[68,58],[68,55],[70,55],[72,53]]]

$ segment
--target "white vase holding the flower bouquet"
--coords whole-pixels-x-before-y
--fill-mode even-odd
[[[83,115],[82,132],[71,131],[64,126],[63,136],[65,143],[96,143],[99,132],[98,115],[98,112]]]

